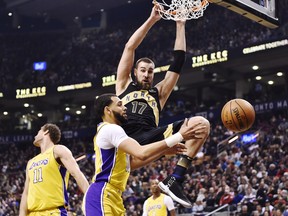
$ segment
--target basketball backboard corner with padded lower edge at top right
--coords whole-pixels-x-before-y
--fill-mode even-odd
[[[279,26],[278,0],[209,0],[268,28]]]

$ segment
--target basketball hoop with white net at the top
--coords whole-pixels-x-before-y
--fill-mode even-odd
[[[171,0],[170,4],[165,0],[161,1],[153,0],[154,5],[160,6],[156,10],[163,19],[174,21],[198,19],[203,16],[204,10],[209,5],[208,0]]]

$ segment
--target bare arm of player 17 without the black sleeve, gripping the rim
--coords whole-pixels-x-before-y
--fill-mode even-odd
[[[116,94],[120,95],[131,82],[131,71],[135,58],[135,50],[141,44],[149,29],[161,19],[159,13],[153,7],[149,18],[134,32],[125,45],[117,68]]]

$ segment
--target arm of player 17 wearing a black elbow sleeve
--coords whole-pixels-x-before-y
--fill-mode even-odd
[[[173,53],[174,61],[171,63],[165,78],[156,85],[156,88],[159,90],[159,100],[162,109],[179,79],[179,74],[185,62],[185,23],[185,21],[176,21],[176,39]]]

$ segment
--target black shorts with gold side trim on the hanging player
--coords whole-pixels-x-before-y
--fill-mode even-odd
[[[157,128],[144,128],[141,127],[141,125],[137,125],[137,127],[133,128],[133,132],[132,130],[126,128],[124,128],[124,130],[128,136],[137,140],[137,142],[139,142],[141,145],[147,145],[153,142],[161,141],[172,134],[177,133],[183,122],[184,120],[180,120]]]

